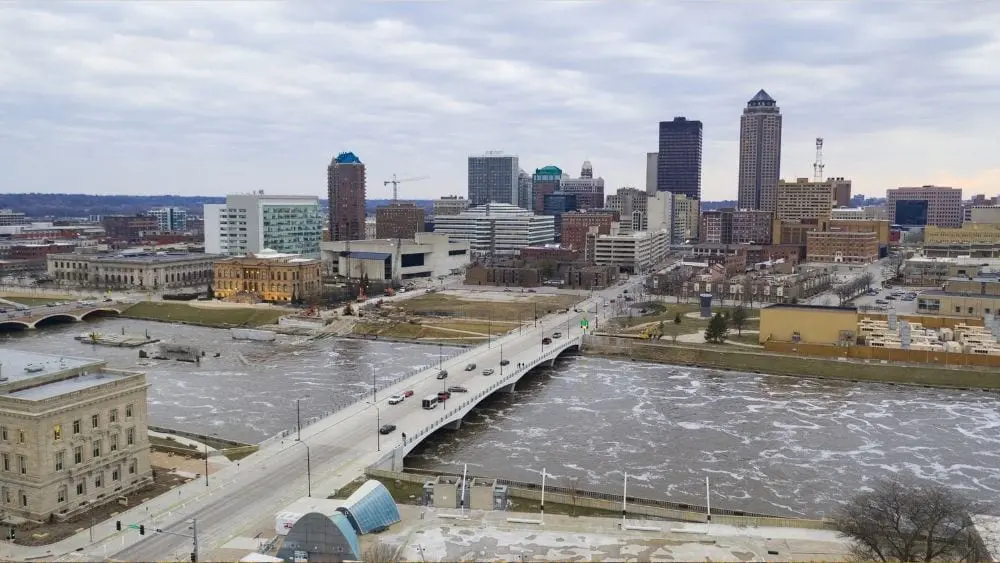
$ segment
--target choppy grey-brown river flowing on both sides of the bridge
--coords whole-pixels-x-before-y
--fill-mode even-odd
[[[208,352],[200,366],[136,366],[135,349],[81,344],[86,330],[142,333]],[[362,340],[234,342],[229,331],[128,319],[52,326],[0,345],[98,357],[152,383],[153,424],[250,442],[438,361],[438,347]],[[214,352],[220,358],[212,358]],[[447,357],[457,349],[443,348]],[[1000,497],[1000,394],[797,379],[597,357],[538,369],[406,463],[424,469],[816,517],[873,478],[912,474]]]

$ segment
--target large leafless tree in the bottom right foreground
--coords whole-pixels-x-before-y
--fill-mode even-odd
[[[988,561],[971,518],[983,511],[945,485],[892,478],[855,495],[834,523],[863,560]]]

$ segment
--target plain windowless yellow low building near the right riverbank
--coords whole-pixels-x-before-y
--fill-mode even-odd
[[[854,342],[858,311],[854,307],[777,304],[760,311],[760,342],[835,344]]]

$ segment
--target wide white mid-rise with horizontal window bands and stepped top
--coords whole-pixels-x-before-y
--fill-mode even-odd
[[[458,215],[438,217],[434,232],[469,243],[473,254],[513,255],[526,246],[555,241],[555,217],[535,215],[504,203],[490,203]]]

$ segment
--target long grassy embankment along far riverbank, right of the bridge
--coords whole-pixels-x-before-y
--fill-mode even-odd
[[[651,343],[614,336],[584,337],[583,353],[770,375],[871,381],[890,385],[1000,390],[1000,374],[988,370],[946,368],[926,364],[829,360],[715,345],[685,346],[662,341]]]

